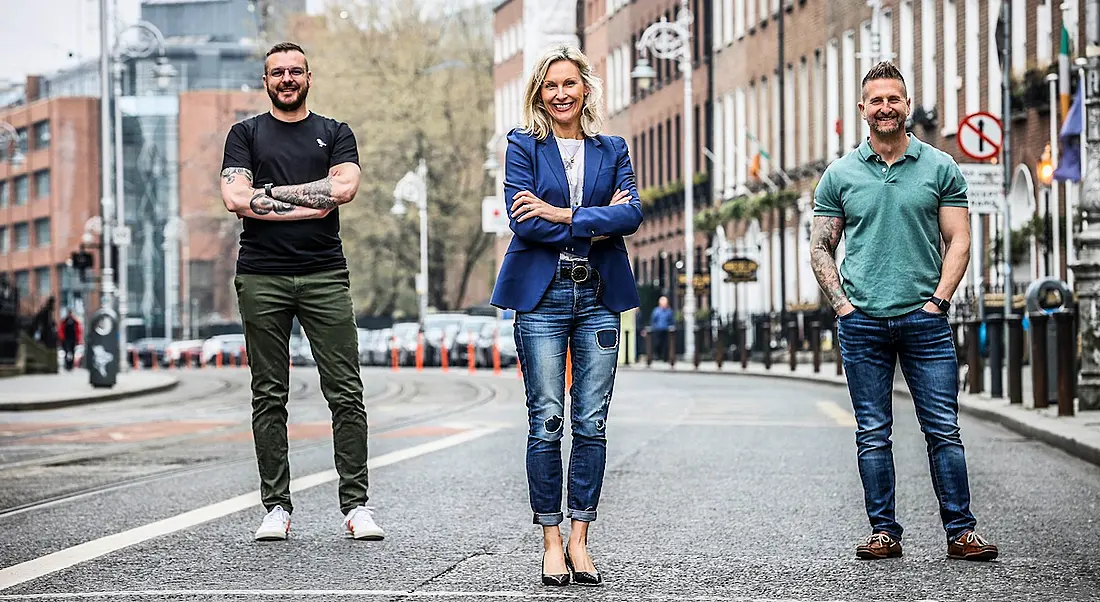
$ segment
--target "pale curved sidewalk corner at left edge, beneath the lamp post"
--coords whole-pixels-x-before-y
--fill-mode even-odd
[[[177,384],[179,384],[178,379],[164,372],[122,373],[111,388],[91,386],[87,370],[9,376],[0,379],[0,412],[51,409],[110,402],[161,393]]]

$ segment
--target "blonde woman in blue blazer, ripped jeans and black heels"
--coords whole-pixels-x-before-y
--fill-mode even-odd
[[[527,390],[527,482],[542,526],[542,583],[602,583],[588,526],[607,457],[607,408],[618,361],[619,314],[638,306],[623,237],[641,225],[626,141],[600,133],[601,83],[570,45],[535,65],[524,125],[508,133],[505,201],[515,237],[492,303],[516,311],[516,351]],[[572,353],[569,544],[559,525],[565,355]]]

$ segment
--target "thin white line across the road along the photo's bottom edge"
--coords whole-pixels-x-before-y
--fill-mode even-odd
[[[85,592],[85,593],[29,593],[0,595],[0,600],[85,600],[89,598],[175,598],[175,596],[221,596],[224,598],[305,598],[317,596],[329,598],[521,598],[521,599],[549,599],[549,600],[586,600],[584,593],[550,593],[550,592],[521,592],[521,591],[406,591],[406,590],[134,590],[114,592]],[[748,598],[728,595],[675,595],[675,594],[632,594],[631,598],[641,600],[662,600],[676,602],[845,602],[837,599],[812,599],[812,598]],[[924,600],[921,602],[936,602]]]

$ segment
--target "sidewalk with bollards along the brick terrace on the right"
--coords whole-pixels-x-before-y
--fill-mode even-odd
[[[739,361],[725,362],[721,371],[715,362],[702,362],[698,370],[695,370],[691,362],[676,362],[674,369],[670,368],[668,363],[653,363],[652,366],[647,368],[645,362],[630,364],[629,366],[620,365],[619,368],[638,372],[650,370],[682,374],[741,374],[794,379],[845,387],[848,385],[844,376],[836,375],[836,364],[833,362],[823,362],[820,373],[814,373],[813,365],[804,363],[798,364],[796,370],[791,372],[791,366],[785,362],[773,363],[771,370],[765,370],[763,364],[759,362],[749,363],[747,369],[741,370]],[[1043,441],[1071,456],[1100,466],[1100,411],[1077,411],[1075,416],[1058,417],[1056,399],[1050,399],[1052,406],[1045,409],[1027,407],[1032,405],[1032,386],[1031,370],[1026,366],[1023,370],[1023,405],[1009,404],[1007,371],[1004,381],[1005,397],[990,397],[989,382],[989,370],[987,369],[986,393],[970,395],[966,393],[967,390],[964,384],[959,390],[959,411],[961,413],[998,423],[1009,430]],[[909,386],[902,379],[900,370],[894,380],[894,394],[910,397]]]

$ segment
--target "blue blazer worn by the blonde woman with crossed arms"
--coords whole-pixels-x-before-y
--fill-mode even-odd
[[[615,190],[629,190],[630,201],[614,207]],[[530,311],[538,305],[558,272],[562,251],[587,256],[603,280],[603,303],[612,311],[638,307],[630,260],[623,237],[641,226],[641,199],[626,141],[597,135],[584,141],[584,193],[573,211],[573,223],[553,223],[543,218],[517,222],[512,197],[529,190],[558,207],[569,207],[565,166],[553,134],[536,140],[518,129],[508,132],[504,167],[504,203],[515,236],[501,264],[490,303],[503,309]],[[592,242],[593,237],[608,238]]]

